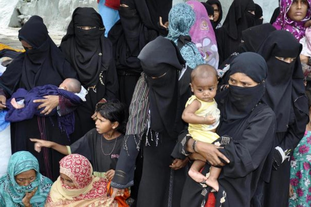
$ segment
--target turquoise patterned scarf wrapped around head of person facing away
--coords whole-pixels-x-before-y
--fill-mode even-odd
[[[179,3],[169,11],[169,34],[167,38],[177,40],[181,35],[189,35],[189,31],[195,22],[195,13],[191,6]]]

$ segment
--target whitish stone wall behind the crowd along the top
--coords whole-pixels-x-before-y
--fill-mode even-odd
[[[173,4],[186,0],[173,0]],[[200,0],[202,1],[202,0]],[[206,0],[205,0],[206,1]],[[223,5],[223,20],[233,0],[220,0]],[[263,9],[264,22],[269,22],[272,13],[278,7],[278,0],[254,0]],[[22,18],[39,15],[49,30],[66,31],[71,15],[76,7],[94,7],[97,10],[96,0],[0,0],[0,27],[18,27],[20,23],[17,11]]]

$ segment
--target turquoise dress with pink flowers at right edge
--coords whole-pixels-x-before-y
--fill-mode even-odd
[[[304,133],[291,157],[290,166],[290,184],[294,194],[289,199],[289,206],[311,206],[311,131]]]

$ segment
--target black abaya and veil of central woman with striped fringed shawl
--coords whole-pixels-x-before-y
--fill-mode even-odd
[[[173,161],[170,154],[176,144],[177,135],[184,127],[181,121],[180,108],[184,106],[186,99],[190,95],[189,90],[182,90],[182,84],[178,81],[179,72],[185,61],[182,59],[176,45],[163,37],[158,37],[147,44],[139,58],[146,75],[143,74],[138,81],[135,92],[147,92],[146,98],[150,102],[147,103],[147,106],[150,107],[145,109],[146,105],[131,105],[131,109],[136,110],[131,110],[130,114],[135,117],[134,114],[137,111],[147,110],[148,113],[150,109],[150,125],[148,126],[148,123],[146,123],[144,125],[146,128],[141,128],[141,123],[139,123],[139,126],[128,124],[125,148],[121,150],[111,186],[124,188],[133,184],[134,162],[138,154],[137,148],[139,149],[140,146],[138,144],[140,140],[139,138],[136,139],[136,137],[140,137],[140,139],[143,137],[143,170],[137,206],[179,207],[181,188],[176,188],[178,187],[177,184],[183,182],[186,172],[184,170],[174,171],[169,168],[169,165]],[[151,77],[158,78],[152,79]],[[141,84],[141,82],[145,84]],[[188,79],[189,82],[190,79]],[[189,89],[188,84],[186,85],[186,88]],[[183,98],[183,96],[187,98]],[[139,101],[136,100],[136,93],[134,93],[133,101],[135,101],[132,102],[133,104]],[[141,114],[141,116],[144,116],[144,114]],[[143,120],[148,122],[148,119]],[[135,123],[135,121],[129,119],[129,123]],[[141,128],[137,132],[139,134],[129,134],[132,132],[132,128],[137,127]],[[140,134],[141,132],[143,134]]]

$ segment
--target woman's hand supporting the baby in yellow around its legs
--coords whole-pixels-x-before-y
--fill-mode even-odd
[[[230,161],[223,155],[219,150],[218,146],[210,143],[199,142],[196,143],[196,151],[201,154],[211,165],[213,166],[224,166],[225,164],[221,162],[221,159],[225,160],[227,163]]]

